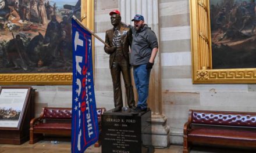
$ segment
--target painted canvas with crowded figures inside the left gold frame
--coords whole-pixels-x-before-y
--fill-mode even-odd
[[[0,0],[0,73],[72,72],[81,0]],[[65,61],[65,62],[63,62]]]

